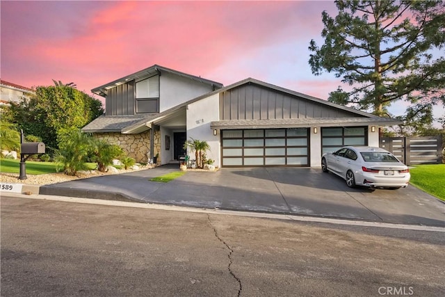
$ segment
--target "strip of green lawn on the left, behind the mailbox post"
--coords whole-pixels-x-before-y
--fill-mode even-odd
[[[96,168],[96,163],[87,163],[91,170]],[[57,172],[58,166],[54,162],[26,161],[26,174],[44,175]],[[19,173],[20,160],[0,159],[0,172]]]

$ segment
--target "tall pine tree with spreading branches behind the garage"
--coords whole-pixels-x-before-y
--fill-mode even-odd
[[[312,73],[323,70],[353,86],[329,101],[375,115],[404,100],[405,125],[432,123],[432,106],[445,102],[445,3],[443,1],[336,1],[339,13],[322,13],[325,42],[311,40]],[[435,51],[439,57],[435,57]],[[442,53],[442,54],[441,54]]]

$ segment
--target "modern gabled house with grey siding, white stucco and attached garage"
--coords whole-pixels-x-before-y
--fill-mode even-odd
[[[401,123],[252,78],[223,87],[159,65],[92,93],[106,98],[106,115],[83,131],[137,161],[159,154],[160,164],[177,161],[194,138],[220,167],[315,167],[343,145],[378,146],[378,127]]]

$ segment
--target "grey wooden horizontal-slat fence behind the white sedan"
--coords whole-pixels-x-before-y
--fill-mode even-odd
[[[381,137],[380,147],[406,165],[442,163],[442,136]]]

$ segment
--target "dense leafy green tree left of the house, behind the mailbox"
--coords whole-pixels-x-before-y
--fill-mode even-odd
[[[39,86],[35,95],[12,103],[8,118],[23,129],[25,135],[42,138],[49,148],[58,148],[58,135],[66,129],[79,129],[104,113],[102,102],[76,88],[56,83]]]

